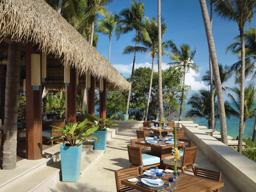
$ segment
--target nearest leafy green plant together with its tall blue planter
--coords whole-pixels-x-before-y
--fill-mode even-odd
[[[98,126],[95,122],[85,119],[78,123],[67,123],[64,128],[52,127],[52,131],[63,134],[62,137],[52,138],[53,141],[63,143],[60,146],[62,181],[76,182],[80,173],[82,143],[92,138],[97,141],[97,138],[90,134],[97,131]]]

